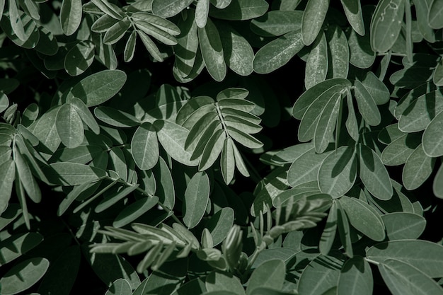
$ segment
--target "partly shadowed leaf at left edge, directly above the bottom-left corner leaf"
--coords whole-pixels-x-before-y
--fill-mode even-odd
[[[0,265],[21,257],[43,241],[40,233],[17,233],[0,243]]]

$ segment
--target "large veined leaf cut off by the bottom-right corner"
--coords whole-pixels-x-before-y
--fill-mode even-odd
[[[393,295],[443,294],[437,282],[405,262],[386,260],[379,264],[379,271]]]

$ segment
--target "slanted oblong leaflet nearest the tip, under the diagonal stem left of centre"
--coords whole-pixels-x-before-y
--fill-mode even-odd
[[[137,201],[132,204],[126,205],[125,209],[115,217],[113,222],[114,227],[122,227],[131,222],[135,221],[137,218],[146,214],[150,209],[152,209],[159,202],[159,197],[144,197],[142,199],[137,199]]]

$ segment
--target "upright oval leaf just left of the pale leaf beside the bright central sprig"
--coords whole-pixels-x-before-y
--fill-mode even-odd
[[[134,133],[131,154],[137,167],[142,170],[153,168],[159,161],[159,141],[151,123],[143,123]]]

